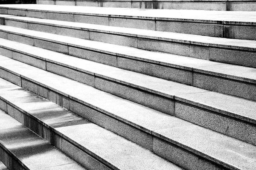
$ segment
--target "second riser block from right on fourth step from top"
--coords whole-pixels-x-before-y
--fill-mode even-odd
[[[95,78],[95,87],[99,90],[137,102],[157,111],[162,111],[171,115],[174,113],[174,101],[163,96],[151,94],[146,91],[140,91],[138,89],[120,85],[98,77]]]

